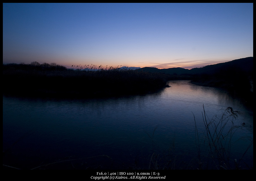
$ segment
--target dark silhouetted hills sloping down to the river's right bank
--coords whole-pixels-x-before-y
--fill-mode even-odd
[[[168,80],[191,80],[193,84],[228,90],[241,97],[247,105],[253,105],[253,57],[207,65],[201,68],[153,68],[144,67],[135,71],[163,73]]]

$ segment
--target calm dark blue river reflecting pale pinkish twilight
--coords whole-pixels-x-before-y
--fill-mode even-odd
[[[195,120],[204,140],[203,104],[209,119],[220,118],[229,106],[241,112],[231,119],[244,125],[232,138],[230,156],[240,159],[253,140],[253,112],[225,91],[189,81],[170,85],[151,95],[112,99],[3,96],[3,164],[31,169],[64,161],[40,168],[148,169],[157,162],[159,168],[196,169]],[[253,145],[243,161],[253,166]]]

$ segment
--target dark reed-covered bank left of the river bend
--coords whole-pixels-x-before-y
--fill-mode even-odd
[[[3,65],[3,94],[26,97],[94,98],[140,95],[166,86],[168,75],[101,66],[67,69],[54,63]]]

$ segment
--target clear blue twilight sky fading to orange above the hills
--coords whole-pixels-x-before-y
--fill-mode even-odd
[[[3,64],[191,69],[253,57],[253,3],[3,3]]]

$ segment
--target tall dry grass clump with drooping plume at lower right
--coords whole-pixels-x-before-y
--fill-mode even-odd
[[[253,139],[250,140],[248,147],[245,148],[239,159],[231,159],[234,134],[244,126],[243,124],[235,125],[232,120],[232,118],[236,119],[239,114],[239,111],[234,111],[232,107],[228,107],[220,118],[214,116],[209,119],[203,105],[202,116],[205,130],[201,136],[194,116],[195,142],[198,153],[197,169],[243,169],[240,167],[240,163],[253,145]],[[230,127],[227,127],[229,125]]]

